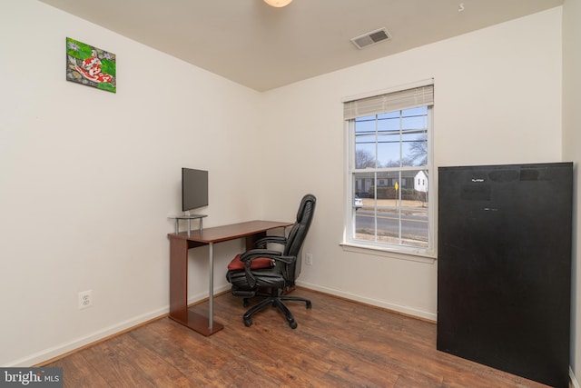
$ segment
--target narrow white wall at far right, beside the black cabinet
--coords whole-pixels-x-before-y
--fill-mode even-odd
[[[579,162],[581,162],[581,117],[579,111],[579,93],[581,90],[581,2],[566,0],[563,5],[563,157],[574,162],[574,214],[573,214],[573,298],[571,303],[571,367],[575,375],[581,374],[581,309],[578,308],[578,295],[581,286],[581,267],[579,260],[581,250],[579,241],[581,229],[581,207],[579,193]],[[578,384],[576,385],[578,386]]]

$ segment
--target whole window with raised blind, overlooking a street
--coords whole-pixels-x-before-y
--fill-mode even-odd
[[[349,134],[347,243],[409,254],[433,251],[429,208],[434,87],[344,104]],[[356,197],[362,204],[355,206]]]

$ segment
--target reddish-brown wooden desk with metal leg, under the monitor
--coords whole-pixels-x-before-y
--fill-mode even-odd
[[[291,223],[275,221],[250,221],[204,228],[202,232],[192,231],[190,235],[188,232],[168,234],[170,239],[170,318],[205,336],[222,330],[224,327],[222,324],[213,322],[213,244],[245,237],[246,250],[250,250],[254,247],[256,240],[266,236],[267,231],[290,225]],[[208,291],[210,311],[208,317],[188,310],[188,250],[203,245],[210,246],[210,287]]]

